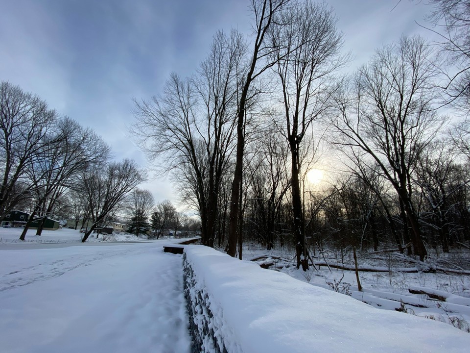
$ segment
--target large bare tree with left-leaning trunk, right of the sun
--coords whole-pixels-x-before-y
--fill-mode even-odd
[[[338,94],[335,132],[354,159],[369,158],[397,192],[412,229],[415,254],[427,255],[413,204],[417,160],[445,122],[436,114],[433,52],[420,37],[377,50],[354,76],[349,92]]]

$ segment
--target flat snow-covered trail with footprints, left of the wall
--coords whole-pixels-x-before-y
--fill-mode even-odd
[[[162,245],[0,252],[1,352],[189,352],[181,255]]]

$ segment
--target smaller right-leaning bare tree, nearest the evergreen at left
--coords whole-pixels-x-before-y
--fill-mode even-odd
[[[111,162],[105,166],[94,166],[83,175],[83,186],[93,222],[83,236],[84,243],[97,227],[104,225],[106,218],[116,211],[125,197],[145,178],[137,164],[130,159]]]

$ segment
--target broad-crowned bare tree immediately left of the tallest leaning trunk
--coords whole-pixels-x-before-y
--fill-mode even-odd
[[[183,80],[173,74],[162,96],[136,101],[132,131],[151,160],[168,158],[163,172],[174,171],[185,198],[199,210],[202,243],[208,246],[215,239],[221,184],[234,146],[244,53],[238,32],[230,37],[218,32],[196,76]]]

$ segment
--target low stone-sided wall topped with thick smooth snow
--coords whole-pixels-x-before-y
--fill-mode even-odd
[[[470,334],[185,246],[193,352],[467,352]]]

